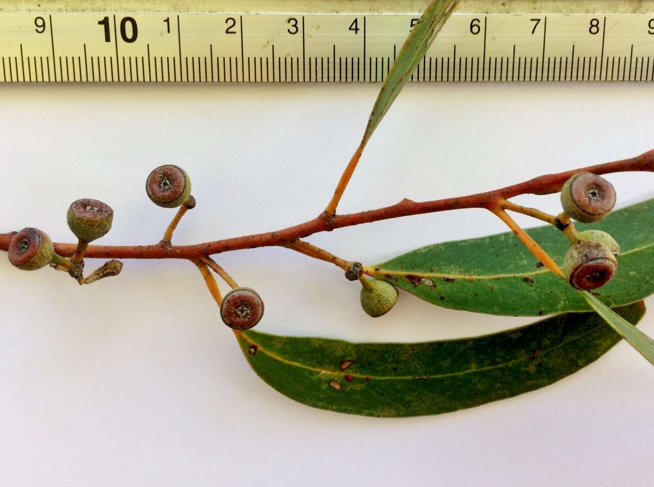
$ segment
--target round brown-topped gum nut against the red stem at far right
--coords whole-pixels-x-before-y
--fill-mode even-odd
[[[561,188],[563,210],[577,222],[602,220],[615,206],[615,189],[593,173],[577,173]]]

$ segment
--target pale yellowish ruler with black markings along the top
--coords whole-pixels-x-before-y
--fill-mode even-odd
[[[426,1],[0,6],[0,82],[382,82]],[[416,82],[654,80],[654,2],[462,1]]]

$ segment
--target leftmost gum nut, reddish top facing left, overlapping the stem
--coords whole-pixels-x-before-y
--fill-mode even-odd
[[[22,229],[9,243],[9,261],[23,271],[36,271],[56,258],[50,237],[37,228]]]

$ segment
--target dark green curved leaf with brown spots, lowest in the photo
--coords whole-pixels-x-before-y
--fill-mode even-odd
[[[645,305],[616,311],[636,324]],[[440,414],[536,390],[597,360],[620,340],[595,313],[425,343],[349,343],[253,330],[236,336],[252,369],[291,399],[385,417]]]

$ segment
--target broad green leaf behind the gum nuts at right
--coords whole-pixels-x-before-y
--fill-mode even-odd
[[[617,275],[593,293],[602,303],[623,306],[654,292],[654,199],[577,228],[604,230],[620,244]],[[562,265],[569,244],[560,231],[544,226],[527,233]],[[366,270],[452,309],[520,316],[591,311],[582,295],[542,267],[511,232],[426,246]]]

